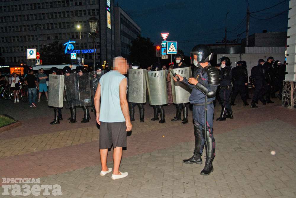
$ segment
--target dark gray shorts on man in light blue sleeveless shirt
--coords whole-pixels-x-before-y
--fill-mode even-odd
[[[101,122],[99,149],[126,147],[126,122]]]

